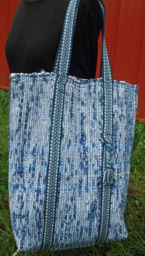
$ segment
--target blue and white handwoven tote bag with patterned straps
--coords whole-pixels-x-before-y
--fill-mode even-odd
[[[69,75],[80,0],[70,0],[52,73],[10,74],[9,206],[19,252],[126,239],[123,214],[138,85]],[[45,39],[45,38],[44,38]]]

